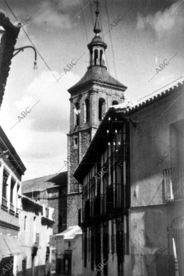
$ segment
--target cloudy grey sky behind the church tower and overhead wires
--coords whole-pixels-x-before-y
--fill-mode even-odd
[[[96,5],[94,0],[89,1],[7,0],[16,20],[1,0],[0,8],[15,24],[37,11],[22,28],[51,70],[38,54],[38,70],[33,70],[34,51],[30,48],[16,55],[10,66],[0,124],[27,168],[23,181],[57,173],[65,165],[70,115],[67,89],[85,74],[89,65],[87,44],[95,35]],[[109,24],[114,24],[118,15],[123,16],[129,11],[103,37],[107,44],[107,70],[128,87],[126,99],[138,101],[184,75],[184,1],[100,2],[101,36],[110,29]],[[22,28],[16,48],[31,45]],[[59,79],[67,64],[82,55],[77,65]],[[160,69],[159,65],[165,59],[165,63],[171,60],[157,73],[156,68]],[[19,122],[18,116],[27,107],[31,112]],[[60,172],[66,169],[64,167]]]

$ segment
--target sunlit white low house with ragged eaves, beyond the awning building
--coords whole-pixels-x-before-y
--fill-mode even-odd
[[[54,209],[39,201],[21,196],[20,235],[23,255],[18,274],[49,276],[51,272]]]

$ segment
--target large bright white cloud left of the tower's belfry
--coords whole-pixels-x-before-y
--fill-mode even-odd
[[[59,78],[57,72],[54,74]],[[23,97],[15,101],[15,109],[31,112],[27,114],[24,119],[21,119],[21,125],[24,126],[23,121],[26,123],[26,128],[34,131],[62,131],[64,133],[69,130],[69,117],[70,117],[70,94],[67,91],[69,87],[74,85],[80,77],[67,72],[56,83],[50,72],[45,71],[39,76],[35,77],[32,83],[27,87]],[[19,115],[21,116],[21,115]],[[18,117],[17,117],[18,119]],[[18,120],[17,120],[18,121]]]

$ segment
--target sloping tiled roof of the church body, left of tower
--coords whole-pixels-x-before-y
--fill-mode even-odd
[[[22,182],[22,194],[33,191],[44,191],[67,183],[67,172],[47,175]]]

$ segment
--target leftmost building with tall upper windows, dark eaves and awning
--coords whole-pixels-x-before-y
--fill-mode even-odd
[[[16,275],[20,255],[21,177],[26,167],[0,126],[0,273]],[[13,273],[13,274],[12,274]],[[0,275],[1,275],[0,274]]]

